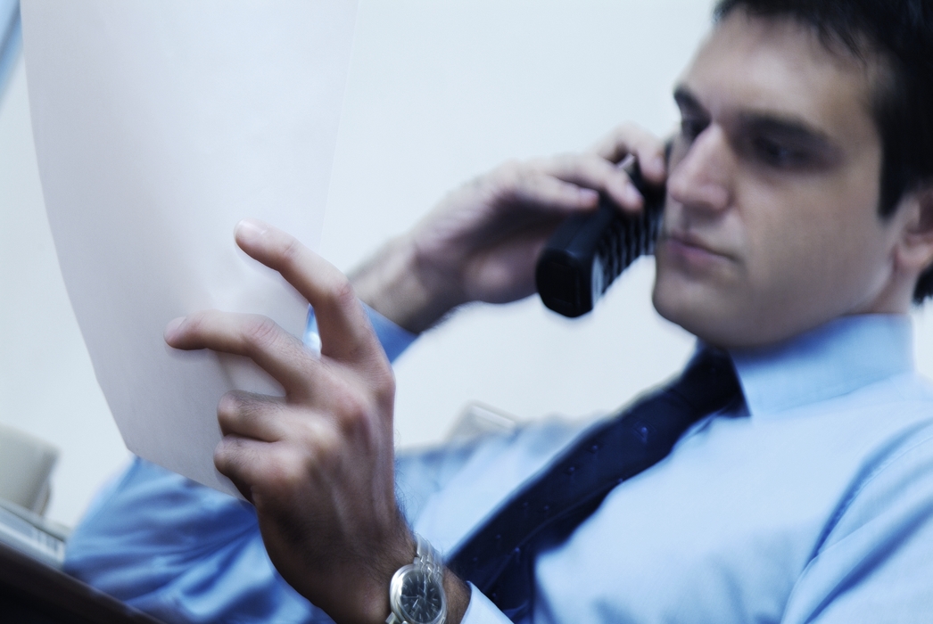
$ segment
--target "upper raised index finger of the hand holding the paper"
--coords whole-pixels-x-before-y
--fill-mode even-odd
[[[256,219],[237,224],[235,236],[244,252],[279,271],[311,303],[322,354],[339,359],[382,354],[369,318],[340,270],[295,237]]]

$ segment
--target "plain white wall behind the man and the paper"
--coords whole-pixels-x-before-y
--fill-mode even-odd
[[[361,0],[321,251],[343,270],[450,188],[509,158],[578,150],[670,92],[707,0]],[[73,524],[127,451],[94,381],[46,221],[19,67],[0,102],[0,423],[63,451],[49,515]],[[651,310],[649,262],[587,318],[536,298],[471,308],[397,362],[402,445],[443,437],[469,400],[520,418],[613,409],[684,361]],[[918,316],[923,370],[933,323]]]

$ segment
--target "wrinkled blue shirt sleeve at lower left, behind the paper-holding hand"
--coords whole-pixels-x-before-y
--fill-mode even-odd
[[[166,622],[331,622],[275,571],[252,506],[139,458],[77,526],[64,569]]]

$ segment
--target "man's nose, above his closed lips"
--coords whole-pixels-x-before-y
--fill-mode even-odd
[[[710,125],[687,147],[667,179],[671,199],[689,209],[725,210],[731,201],[729,137]]]

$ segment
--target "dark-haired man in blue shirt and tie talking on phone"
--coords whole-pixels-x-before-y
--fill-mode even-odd
[[[620,479],[559,539],[532,543],[522,560],[532,585],[509,615],[933,613],[933,391],[912,370],[906,316],[929,293],[933,263],[933,5],[725,0],[717,15],[675,90],[682,123],[667,167],[661,143],[632,128],[592,154],[506,166],[352,281],[246,221],[240,246],[313,305],[320,357],[259,317],[202,312],[167,327],[170,345],[247,355],[285,387],[282,398],[221,399],[215,460],[255,506],[277,570],[327,617],[398,613],[390,582],[430,559],[411,525],[472,578],[463,553],[494,549],[502,535],[483,531],[497,519],[521,520],[508,514],[534,491],[525,482],[549,484],[553,466],[573,478],[556,454],[613,451],[586,448],[592,430],[541,424],[395,458],[391,368],[357,298],[378,312],[380,338],[397,341],[467,301],[532,293],[536,252],[564,215],[592,209],[597,191],[640,208],[615,166],[628,154],[649,181],[666,178],[655,307],[698,337],[694,364],[713,354],[720,377],[734,367],[741,393],[723,395],[669,456]],[[646,417],[644,427],[653,438],[661,425]],[[272,575],[250,510],[146,465],[104,496],[71,548],[76,574],[167,619],[324,617]],[[508,621],[502,596],[437,572],[447,622]],[[425,574],[415,603],[437,598]]]

